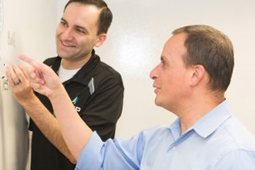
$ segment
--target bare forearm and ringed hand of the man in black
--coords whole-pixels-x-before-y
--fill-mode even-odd
[[[45,137],[65,155],[70,162],[76,164],[76,160],[66,146],[57,119],[35,96],[22,70],[25,70],[24,66],[15,64],[8,66],[6,69],[6,76],[11,85],[14,98],[23,106]]]

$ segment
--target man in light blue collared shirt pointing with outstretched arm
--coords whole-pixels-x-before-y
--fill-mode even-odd
[[[51,69],[26,56],[22,69],[34,90],[46,95],[76,170],[255,170],[255,139],[231,113],[225,92],[234,68],[231,41],[206,25],[176,29],[152,70],[156,105],[178,116],[170,126],[130,139],[102,142],[73,109]],[[19,70],[9,71],[10,74]],[[13,81],[22,77],[11,75]]]

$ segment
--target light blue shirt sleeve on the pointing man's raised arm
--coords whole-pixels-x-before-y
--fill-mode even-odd
[[[94,132],[78,158],[76,170],[139,170],[142,142],[142,135],[102,142]]]

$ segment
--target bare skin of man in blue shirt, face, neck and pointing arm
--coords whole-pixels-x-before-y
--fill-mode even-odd
[[[182,57],[186,53],[186,36],[180,33],[167,40],[161,62],[150,74],[154,80],[156,105],[180,117],[182,133],[224,100],[224,92],[208,88],[209,76],[202,65],[185,66]],[[33,89],[50,99],[66,144],[77,159],[92,135],[91,129],[73,109],[52,69],[27,56],[19,57],[32,66],[24,72]]]

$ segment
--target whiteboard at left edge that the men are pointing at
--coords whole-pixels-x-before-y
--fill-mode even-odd
[[[0,4],[1,5],[1,4]],[[2,0],[0,42],[0,170],[25,170],[28,150],[24,110],[4,90],[4,64],[19,63],[20,53],[39,61],[55,55],[57,2],[52,0]],[[4,24],[2,24],[4,23]],[[28,168],[29,169],[29,164]]]

